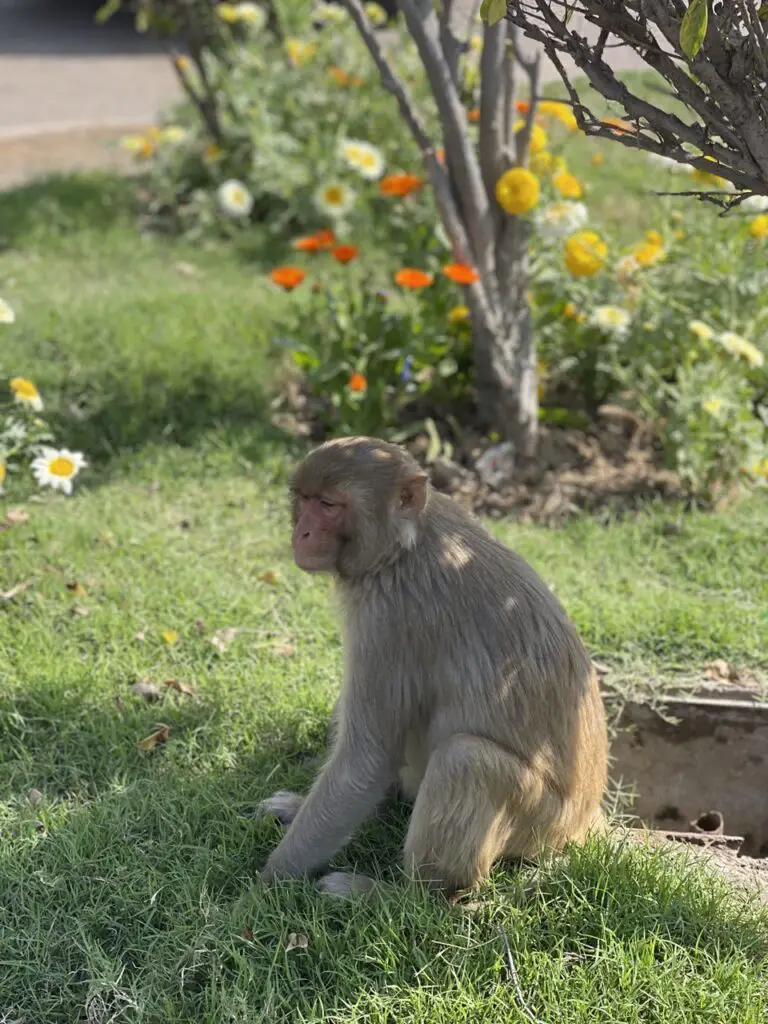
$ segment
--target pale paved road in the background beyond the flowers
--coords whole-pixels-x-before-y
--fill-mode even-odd
[[[0,0],[0,187],[54,169],[127,167],[114,140],[178,98],[167,55],[129,15],[94,25],[99,2]],[[640,66],[626,50],[612,62]],[[557,76],[545,66],[543,77]]]

